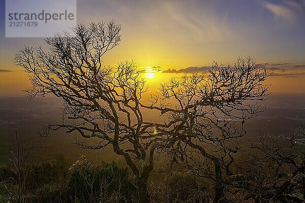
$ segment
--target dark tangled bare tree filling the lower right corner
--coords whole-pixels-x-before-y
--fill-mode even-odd
[[[305,199],[305,127],[295,123],[284,136],[260,133],[259,142],[250,141],[251,151],[238,164],[245,191],[243,200],[255,202],[303,202]],[[247,162],[247,164],[245,163]],[[236,190],[236,189],[235,189]]]

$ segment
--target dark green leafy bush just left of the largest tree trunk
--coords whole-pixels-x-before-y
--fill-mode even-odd
[[[127,169],[115,162],[94,166],[82,155],[69,170],[70,193],[78,202],[132,202],[135,198]]]

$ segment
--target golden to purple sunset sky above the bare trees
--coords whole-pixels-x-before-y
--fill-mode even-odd
[[[13,64],[24,45],[42,38],[5,38],[0,0],[0,96],[21,96],[26,75]],[[271,92],[305,93],[305,1],[99,1],[78,0],[77,22],[115,19],[121,44],[105,65],[133,60],[150,85],[184,73],[206,72],[213,60],[232,63],[251,55],[272,67]]]

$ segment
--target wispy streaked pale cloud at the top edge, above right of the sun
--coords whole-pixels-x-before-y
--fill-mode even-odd
[[[226,13],[216,15],[210,9],[211,4],[199,7],[202,1],[163,1],[163,9],[168,18],[178,23],[180,29],[188,31],[192,41],[211,42],[235,39],[236,33],[228,26]],[[190,12],[192,11],[192,12]],[[211,20],[212,18],[212,20]],[[168,20],[168,19],[167,19]],[[166,20],[166,21],[167,21]]]

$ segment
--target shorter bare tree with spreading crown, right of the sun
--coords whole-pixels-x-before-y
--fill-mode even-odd
[[[246,131],[245,120],[265,109],[270,70],[248,57],[230,64],[214,64],[207,76],[193,74],[161,85],[151,106],[167,116],[158,123],[164,136],[159,144],[174,161],[185,163],[198,176],[214,182],[214,201],[227,201],[224,176],[232,176],[233,154]],[[200,172],[200,173],[198,173]]]

